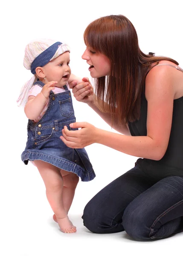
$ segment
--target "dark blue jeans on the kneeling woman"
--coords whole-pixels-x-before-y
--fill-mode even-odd
[[[135,166],[98,192],[84,208],[94,233],[126,231],[132,238],[162,239],[183,231],[183,177],[150,178]]]

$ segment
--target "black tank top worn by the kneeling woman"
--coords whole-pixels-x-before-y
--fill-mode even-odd
[[[178,66],[168,65],[183,70]],[[129,122],[128,126],[132,136],[147,136],[147,100],[145,93],[142,94],[140,118]],[[166,127],[165,127],[166,129]],[[161,160],[150,160],[139,158],[137,164],[142,170],[152,176],[163,178],[171,175],[183,176],[183,97],[174,99],[173,116],[170,139],[165,155]]]

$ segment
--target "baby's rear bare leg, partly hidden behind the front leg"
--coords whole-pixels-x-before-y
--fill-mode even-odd
[[[64,170],[61,170],[61,175],[62,175],[63,183],[64,183],[62,198],[63,198],[63,203],[64,203],[64,209],[68,214],[71,204],[73,202],[73,198],[74,198],[76,186],[79,181],[79,177],[76,174],[74,174],[73,172],[67,172]],[[57,221],[55,215],[53,215],[53,219],[54,219],[54,221]]]

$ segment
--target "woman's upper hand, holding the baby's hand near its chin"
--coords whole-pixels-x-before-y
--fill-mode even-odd
[[[93,87],[90,84],[90,81],[87,77],[82,79],[82,83],[77,84],[77,81],[72,81],[69,86],[73,90],[73,95],[79,102],[84,102],[87,104],[93,104],[94,102],[94,93]]]

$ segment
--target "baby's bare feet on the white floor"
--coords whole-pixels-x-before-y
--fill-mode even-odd
[[[70,219],[67,217],[58,219],[56,215],[53,215],[54,221],[56,221],[64,233],[75,233],[76,227],[73,225],[73,223],[70,221]]]

